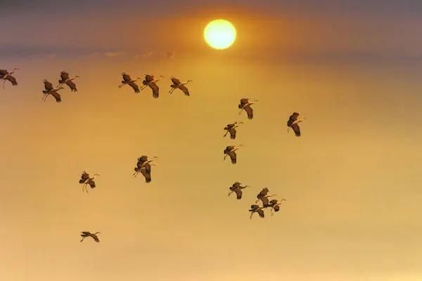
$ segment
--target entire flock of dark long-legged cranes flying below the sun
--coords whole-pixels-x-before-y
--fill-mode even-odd
[[[15,77],[13,76],[13,74],[15,73],[16,70],[19,70],[19,68],[14,68],[12,71],[8,71],[8,70],[0,70],[0,81],[3,80],[3,88],[4,88],[4,84],[6,84],[6,81],[10,81],[12,86],[18,86],[18,82],[16,81]],[[46,100],[46,98],[48,98],[50,95],[53,96],[53,98],[56,99],[57,103],[61,103],[62,99],[60,94],[58,93],[58,91],[65,89],[64,84],[68,85],[68,87],[70,88],[70,91],[72,92],[76,92],[77,91],[77,87],[76,84],[74,82],[74,80],[76,78],[79,78],[79,76],[75,76],[75,77],[70,77],[68,72],[62,71],[60,72],[60,79],[58,80],[58,86],[53,87],[53,84],[51,84],[51,82],[49,82],[48,80],[44,79],[44,88],[45,90],[42,91],[44,93],[44,96],[42,98],[42,100]],[[137,77],[136,79],[132,79],[129,74],[122,72],[122,84],[120,84],[120,86],[118,86],[119,88],[122,88],[125,85],[129,85],[132,87],[132,89],[134,90],[134,92],[136,94],[140,93],[143,89],[146,89],[146,87],[149,87],[153,93],[153,98],[158,98],[160,96],[160,87],[157,85],[157,82],[160,81],[161,78],[164,78],[162,75],[160,75],[160,77],[158,79],[155,79],[153,75],[151,74],[146,74],[145,75],[145,79],[143,79],[142,81],[142,87],[141,89],[139,89],[138,84],[136,84],[136,81],[141,80],[142,78]],[[172,84],[170,85],[170,87],[172,89],[170,89],[169,93],[173,93],[173,91],[175,91],[176,89],[179,89],[181,91],[183,91],[183,93],[185,94],[185,96],[190,96],[190,93],[188,91],[188,88],[185,86],[186,84],[188,84],[189,82],[191,82],[192,80],[187,80],[184,83],[181,83],[181,81],[177,78],[171,77],[170,78],[172,81]],[[246,115],[248,116],[248,119],[252,120],[253,119],[253,110],[251,105],[253,105],[254,103],[256,103],[258,100],[253,100],[250,101],[249,98],[241,98],[240,103],[238,104],[238,109],[240,109],[241,111],[239,112],[239,115],[242,114],[243,111],[246,112]],[[293,131],[295,132],[295,136],[300,137],[300,126],[299,123],[304,121],[306,118],[302,118],[302,119],[298,119],[299,117],[299,113],[298,112],[293,112],[292,115],[290,115],[290,117],[288,118],[288,122],[287,122],[287,126],[288,129],[287,131],[289,132],[290,129],[293,129]],[[223,137],[226,137],[228,134],[230,134],[230,138],[232,140],[236,139],[236,128],[238,128],[238,126],[240,126],[240,124],[243,124],[243,122],[234,122],[233,124],[227,124],[227,126],[224,127],[224,130],[226,131],[226,133],[224,134]],[[229,145],[224,149],[224,160],[227,157],[230,157],[231,159],[231,163],[232,164],[236,164],[237,162],[237,155],[236,155],[236,151],[241,147],[242,145]],[[151,179],[151,166],[155,166],[153,162],[155,159],[158,159],[158,157],[154,156],[151,159],[149,159],[148,156],[146,155],[142,155],[141,157],[138,158],[138,161],[136,163],[136,167],[134,168],[134,177],[136,177],[139,173],[141,173],[143,175],[143,177],[145,178],[146,183],[151,183],[152,179]],[[87,171],[83,171],[82,172],[82,176],[79,179],[79,183],[82,184],[82,191],[86,191],[88,192],[88,188],[87,186],[89,185],[89,187],[92,188],[96,188],[96,183],[94,181],[94,178],[96,176],[99,176],[98,174],[93,174],[92,176],[89,176],[89,174],[87,173]],[[245,188],[250,188],[249,185],[245,185],[245,186],[241,186],[241,183],[239,182],[235,182],[233,183],[233,185],[231,185],[231,187],[229,188],[230,192],[229,192],[229,196],[231,195],[231,193],[235,193],[236,194],[236,198],[238,200],[242,199],[242,195],[243,195],[243,189]],[[286,201],[284,198],[281,200],[269,200],[269,197],[274,197],[274,196],[278,196],[276,194],[269,194],[269,190],[268,188],[263,188],[257,195],[257,200],[255,201],[254,204],[252,204],[250,206],[250,219],[252,219],[252,215],[254,213],[257,213],[260,218],[264,218],[264,209],[270,208],[271,210],[271,216],[274,215],[274,211],[277,212],[280,210],[280,205],[283,201]],[[258,204],[258,202],[262,202],[262,205],[260,206]],[[96,233],[91,233],[89,231],[82,231],[81,233],[81,237],[82,237],[82,241],[84,241],[84,239],[86,237],[92,237],[94,239],[95,242],[100,242],[100,240],[98,239],[97,234],[101,234],[100,232],[96,232]]]

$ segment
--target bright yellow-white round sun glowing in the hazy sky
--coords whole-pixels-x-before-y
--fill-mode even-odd
[[[229,48],[236,40],[236,28],[227,20],[212,20],[204,29],[204,39],[211,48]]]

